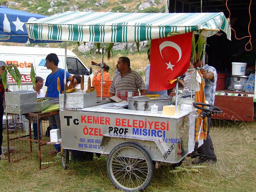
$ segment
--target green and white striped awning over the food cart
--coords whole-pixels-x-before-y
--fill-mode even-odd
[[[40,40],[140,42],[196,31],[212,36],[220,29],[231,39],[220,13],[113,13],[68,11],[27,22],[28,36]],[[204,30],[209,29],[209,30]]]

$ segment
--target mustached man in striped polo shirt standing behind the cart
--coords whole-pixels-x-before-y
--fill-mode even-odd
[[[118,73],[114,76],[109,89],[109,97],[118,96],[122,100],[128,97],[128,91],[131,91],[132,96],[146,95],[147,88],[145,83],[136,71],[130,68],[130,59],[128,57],[118,58],[116,68]]]

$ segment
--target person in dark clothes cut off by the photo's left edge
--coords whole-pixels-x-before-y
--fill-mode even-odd
[[[8,158],[4,156],[2,153],[2,143],[3,143],[3,116],[4,116],[4,85],[2,82],[2,75],[4,73],[4,68],[6,63],[4,61],[0,61],[0,160],[7,160]]]

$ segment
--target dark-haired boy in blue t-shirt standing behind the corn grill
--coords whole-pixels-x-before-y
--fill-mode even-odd
[[[57,89],[57,80],[60,78],[60,92],[64,91],[64,74],[65,70],[58,68],[59,59],[55,53],[50,53],[46,56],[46,68],[52,70],[52,73],[49,74],[46,78],[45,86],[47,86],[46,96],[59,98],[59,92]],[[72,75],[67,72],[66,82],[71,81]],[[76,79],[74,79],[74,84],[76,84]],[[60,129],[60,115],[50,116],[49,124],[52,129]],[[54,119],[56,124],[54,124]],[[60,144],[54,145],[55,150],[49,154],[56,154],[60,152]]]

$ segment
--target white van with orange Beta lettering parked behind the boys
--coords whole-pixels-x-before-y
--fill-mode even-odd
[[[57,54],[59,58],[58,67],[64,69],[65,49],[61,48],[40,48],[40,47],[24,47],[24,46],[0,46],[0,60],[6,64],[18,65],[18,69],[22,74],[22,88],[20,90],[28,90],[33,85],[30,78],[30,64],[33,64],[36,76],[40,76],[46,80],[51,70],[46,68],[46,56],[50,53]],[[84,85],[87,86],[88,76],[92,79],[92,69],[88,69],[72,51],[67,50],[67,70],[72,75],[84,75]],[[11,90],[18,90],[14,86],[15,81],[8,74],[8,82]],[[47,87],[43,87],[46,91]]]

